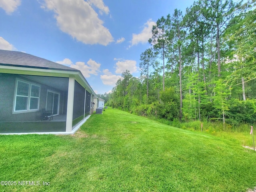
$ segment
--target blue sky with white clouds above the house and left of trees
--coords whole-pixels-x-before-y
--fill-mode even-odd
[[[155,22],[194,0],[0,0],[0,49],[79,69],[96,93],[140,76]]]

